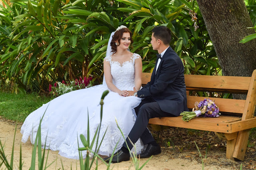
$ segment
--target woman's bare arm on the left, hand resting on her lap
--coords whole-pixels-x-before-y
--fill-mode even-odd
[[[121,95],[122,93],[124,95],[128,95],[128,92],[127,91],[121,91],[119,90],[114,84],[113,84],[113,81],[112,81],[112,75],[111,75],[111,71],[110,71],[110,64],[108,61],[103,61],[103,68],[104,68],[104,75],[105,75],[105,81],[106,81],[106,84],[108,86],[108,89],[110,89],[111,91],[114,91],[116,93],[118,93],[119,95]]]

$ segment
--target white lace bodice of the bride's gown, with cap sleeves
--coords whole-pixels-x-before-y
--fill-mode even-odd
[[[134,84],[134,63],[140,55],[133,53],[130,60],[124,63],[113,61],[111,55],[104,58],[110,63],[113,84],[120,90],[133,90]]]

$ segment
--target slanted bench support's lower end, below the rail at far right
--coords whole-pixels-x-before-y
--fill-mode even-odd
[[[246,152],[247,142],[250,134],[250,129],[242,130],[238,132],[238,137],[234,149],[233,157],[239,160],[244,160]]]

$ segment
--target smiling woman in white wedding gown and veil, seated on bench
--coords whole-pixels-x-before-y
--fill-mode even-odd
[[[34,144],[40,118],[44,115],[41,123],[42,147],[59,150],[59,154],[66,158],[79,159],[78,144],[83,146],[79,136],[83,134],[87,137],[89,115],[92,141],[100,123],[100,98],[109,89],[110,93],[104,99],[99,142],[107,131],[98,154],[109,156],[116,144],[116,150],[119,150],[124,138],[115,117],[126,138],[136,120],[134,108],[141,102],[141,98],[128,93],[128,90],[139,90],[141,87],[142,61],[140,55],[129,51],[132,42],[132,32],[125,26],[118,27],[108,42],[102,85],[66,93],[30,113],[21,127],[22,142],[30,137]],[[138,140],[137,153],[142,149],[143,144]],[[82,156],[86,156],[86,151],[82,151]]]

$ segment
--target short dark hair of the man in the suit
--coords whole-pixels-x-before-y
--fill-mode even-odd
[[[156,40],[160,39],[165,45],[169,45],[172,39],[171,31],[166,26],[157,26],[152,29],[154,33],[154,38]]]

